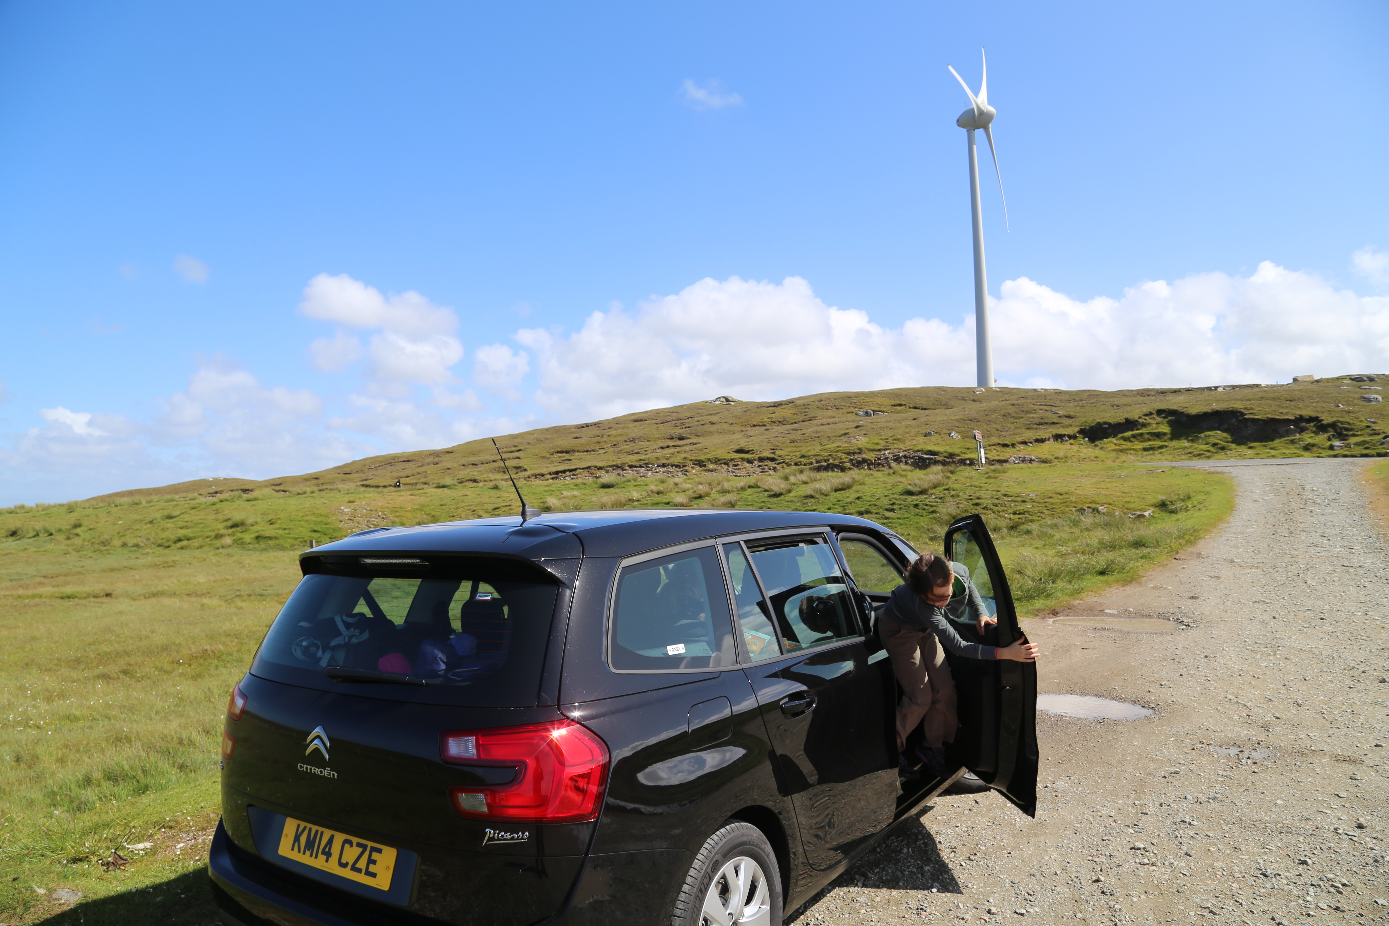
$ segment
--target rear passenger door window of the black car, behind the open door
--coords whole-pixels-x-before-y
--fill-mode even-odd
[[[863,636],[853,594],[824,537],[747,541],[786,653]]]

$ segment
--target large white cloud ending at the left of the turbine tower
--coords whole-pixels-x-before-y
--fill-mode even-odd
[[[593,312],[568,336],[522,329],[540,387],[560,416],[607,416],[733,394],[764,400],[838,389],[958,382],[972,333],[939,321],[900,329],[820,301],[804,279],[703,279],[635,314]]]

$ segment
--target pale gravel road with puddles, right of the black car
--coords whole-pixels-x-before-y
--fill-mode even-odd
[[[1039,714],[1035,820],[939,798],[789,922],[1389,920],[1389,571],[1365,462],[1200,465],[1233,476],[1229,521],[1065,609],[1179,630],[1026,623],[1042,691],[1154,714]]]

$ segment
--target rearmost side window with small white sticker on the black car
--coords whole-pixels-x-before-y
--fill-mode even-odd
[[[728,594],[713,547],[622,566],[608,658],[618,671],[736,665]]]

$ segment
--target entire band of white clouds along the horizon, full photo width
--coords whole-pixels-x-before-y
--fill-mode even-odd
[[[1365,258],[1371,268],[1374,257]],[[210,357],[149,421],[36,410],[42,426],[0,443],[0,491],[8,496],[0,504],[208,475],[310,472],[718,394],[772,400],[974,383],[972,318],[888,326],[826,305],[796,276],[703,279],[635,310],[613,303],[572,332],[521,329],[515,346],[475,351],[472,382],[492,398],[460,387],[451,373],[463,358],[458,318],[418,293],[386,297],[321,275],[301,311],[339,326],[308,346],[310,362],[332,372],[365,361],[363,389],[338,398],[268,386]],[[1268,262],[1247,276],[1142,282],[1088,301],[1020,278],[1000,286],[990,318],[1001,385],[1125,389],[1389,369],[1389,296],[1358,296]],[[369,332],[367,344],[350,329]]]

